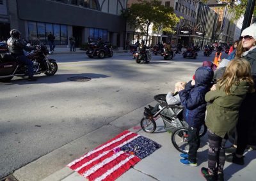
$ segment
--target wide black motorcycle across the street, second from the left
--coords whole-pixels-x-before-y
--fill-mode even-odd
[[[104,57],[113,57],[113,50],[109,43],[89,43],[86,55],[90,58],[99,57],[103,59]]]

